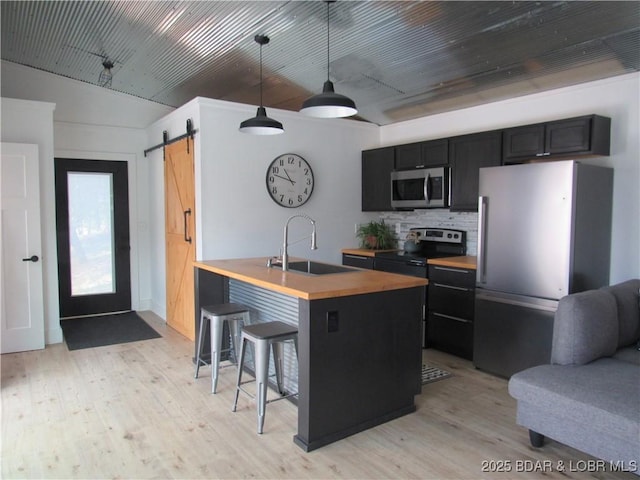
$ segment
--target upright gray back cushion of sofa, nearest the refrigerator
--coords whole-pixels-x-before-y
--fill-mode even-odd
[[[553,322],[551,363],[582,365],[615,353],[618,315],[615,297],[588,290],[562,297]]]

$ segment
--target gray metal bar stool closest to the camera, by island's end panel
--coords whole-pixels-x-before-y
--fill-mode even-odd
[[[258,410],[258,433],[262,433],[264,427],[264,413],[267,403],[284,398],[292,397],[298,393],[286,394],[283,387],[283,353],[284,342],[293,340],[296,349],[296,358],[298,356],[298,329],[294,326],[287,325],[283,322],[265,322],[248,325],[242,328],[242,341],[240,343],[240,359],[238,361],[238,381],[236,382],[236,395],[233,400],[233,412],[236,411],[238,404],[238,395],[240,390],[252,398],[256,398],[256,406]],[[255,397],[242,388],[242,370],[244,367],[244,356],[246,351],[246,343],[252,342],[254,345],[254,361],[255,361]],[[269,381],[269,346],[273,350],[273,363],[276,370],[276,383],[280,397],[267,401],[267,386]]]

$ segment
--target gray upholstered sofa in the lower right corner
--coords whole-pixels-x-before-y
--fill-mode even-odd
[[[563,297],[551,364],[516,373],[516,422],[640,475],[640,280]]]

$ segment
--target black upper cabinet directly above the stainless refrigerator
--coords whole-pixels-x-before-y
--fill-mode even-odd
[[[611,119],[568,118],[504,130],[504,163],[567,155],[609,155]]]

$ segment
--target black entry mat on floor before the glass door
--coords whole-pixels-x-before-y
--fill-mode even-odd
[[[69,350],[137,342],[162,336],[136,312],[61,320],[60,326]]]

